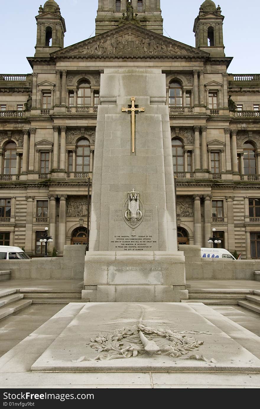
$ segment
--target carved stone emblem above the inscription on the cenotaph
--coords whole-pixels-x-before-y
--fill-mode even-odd
[[[124,221],[129,225],[129,227],[135,229],[142,222],[144,214],[144,206],[139,198],[139,192],[136,192],[133,189],[131,192],[128,192],[128,198],[124,203]]]

